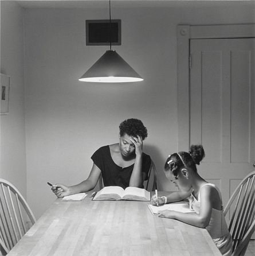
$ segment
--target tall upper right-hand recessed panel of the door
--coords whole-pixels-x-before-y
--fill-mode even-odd
[[[250,91],[251,91],[251,52],[233,51],[231,73],[231,161],[250,161]],[[241,65],[240,65],[241,63]],[[253,67],[254,69],[254,67]],[[241,139],[240,139],[241,138]],[[253,159],[254,160],[254,159]],[[252,160],[252,161],[253,161]]]

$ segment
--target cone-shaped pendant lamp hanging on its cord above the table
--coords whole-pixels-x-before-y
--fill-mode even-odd
[[[138,82],[143,78],[136,71],[112,50],[111,43],[111,1],[109,1],[109,21],[110,21],[110,49],[96,61],[87,72],[79,79],[83,82],[99,83],[125,83]]]

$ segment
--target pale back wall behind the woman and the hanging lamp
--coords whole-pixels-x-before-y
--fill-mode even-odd
[[[112,48],[144,78],[131,84],[78,80],[109,49],[85,45],[85,20],[108,19],[108,5],[24,10],[28,203],[36,218],[55,199],[46,182],[86,179],[91,155],[118,141],[126,118],[139,118],[147,127],[144,152],[156,164],[158,187],[172,189],[162,170],[168,154],[178,150],[176,26],[255,20],[253,1],[171,2],[164,8],[112,4],[112,18],[121,19],[122,30],[122,45]]]

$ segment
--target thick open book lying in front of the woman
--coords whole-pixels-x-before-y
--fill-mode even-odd
[[[93,200],[150,201],[151,193],[143,188],[128,187],[124,190],[121,187],[110,186],[97,192]]]

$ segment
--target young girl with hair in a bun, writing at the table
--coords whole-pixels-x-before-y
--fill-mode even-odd
[[[159,211],[159,217],[177,219],[193,226],[206,228],[222,255],[232,253],[232,237],[227,229],[223,214],[221,192],[214,184],[207,183],[197,173],[197,166],[205,157],[202,145],[192,145],[190,152],[171,154],[164,165],[167,179],[175,183],[178,192],[152,197],[152,204],[166,204],[189,199],[195,213],[183,214],[176,211]]]

